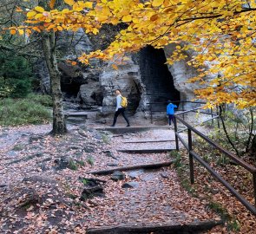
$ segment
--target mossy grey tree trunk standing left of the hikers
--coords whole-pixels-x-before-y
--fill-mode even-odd
[[[43,53],[49,70],[50,88],[53,100],[53,126],[51,133],[67,133],[67,127],[63,114],[61,75],[56,62],[56,39],[54,31],[42,32]]]

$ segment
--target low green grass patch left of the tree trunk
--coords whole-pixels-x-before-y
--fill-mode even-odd
[[[48,95],[31,94],[24,99],[0,100],[0,125],[17,126],[47,123],[51,119]]]

